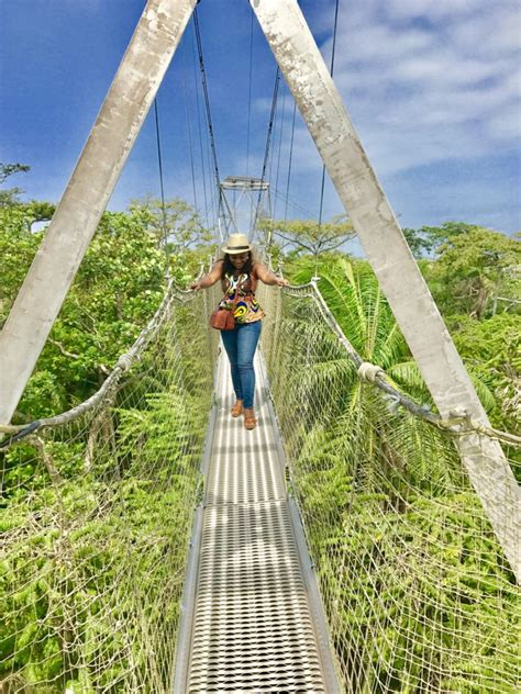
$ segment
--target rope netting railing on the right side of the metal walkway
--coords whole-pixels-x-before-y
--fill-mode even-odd
[[[361,378],[312,283],[263,288],[260,303],[290,491],[346,691],[518,691],[519,590],[456,434]]]

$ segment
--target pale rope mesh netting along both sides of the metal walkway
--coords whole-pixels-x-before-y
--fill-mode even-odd
[[[175,294],[96,407],[2,454],[2,691],[170,690],[218,295]],[[519,593],[454,443],[361,381],[309,288],[260,302],[345,690],[518,691]]]

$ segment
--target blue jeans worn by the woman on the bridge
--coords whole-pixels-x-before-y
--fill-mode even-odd
[[[255,393],[253,358],[260,337],[260,321],[235,324],[233,331],[221,331],[221,337],[230,359],[235,396],[244,402],[245,410],[250,410]]]

